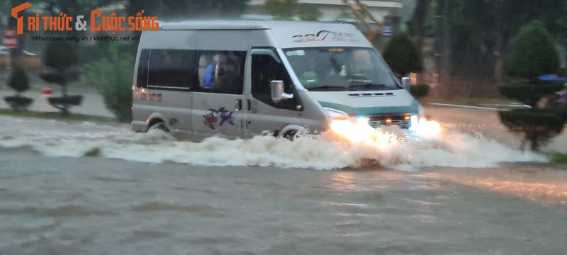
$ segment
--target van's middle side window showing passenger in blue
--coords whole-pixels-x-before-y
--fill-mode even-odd
[[[200,51],[197,54],[199,91],[242,95],[245,51]]]

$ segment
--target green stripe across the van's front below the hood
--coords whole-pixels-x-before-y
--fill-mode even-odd
[[[344,111],[349,115],[363,116],[363,115],[381,115],[381,114],[398,114],[398,113],[417,113],[419,108],[417,101],[413,100],[409,106],[374,106],[374,107],[350,107],[340,103],[329,103],[319,101],[321,106],[327,108],[337,109]]]

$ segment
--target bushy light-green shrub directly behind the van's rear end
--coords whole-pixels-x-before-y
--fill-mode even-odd
[[[134,76],[134,57],[118,54],[118,47],[108,50],[109,59],[94,62],[87,66],[86,83],[99,90],[106,108],[120,121],[131,120],[132,79]]]

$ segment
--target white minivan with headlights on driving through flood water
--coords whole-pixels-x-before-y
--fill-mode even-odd
[[[266,131],[292,138],[337,120],[411,130],[422,108],[405,86],[352,25],[162,23],[140,38],[132,129],[193,141]]]

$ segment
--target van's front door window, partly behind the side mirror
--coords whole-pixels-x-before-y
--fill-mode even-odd
[[[275,60],[271,55],[252,55],[252,96],[276,108],[296,109],[296,94],[279,103],[271,101],[270,82],[274,80],[283,81],[283,91],[286,94],[295,94],[293,82],[281,61]]]

